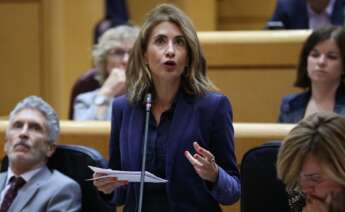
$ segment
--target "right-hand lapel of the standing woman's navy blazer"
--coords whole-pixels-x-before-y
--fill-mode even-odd
[[[189,99],[186,94],[183,92],[179,94],[169,131],[166,161],[166,176],[168,179],[171,176],[176,157],[184,157],[183,155],[177,156],[176,153],[181,145],[180,143],[183,142],[183,139],[181,138],[188,127],[190,121],[189,117],[193,113],[193,106],[189,103],[189,101],[192,101],[192,99]]]

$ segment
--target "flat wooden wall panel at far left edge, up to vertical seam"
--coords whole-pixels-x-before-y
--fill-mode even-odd
[[[40,19],[40,1],[0,1],[0,116],[25,96],[41,94]]]

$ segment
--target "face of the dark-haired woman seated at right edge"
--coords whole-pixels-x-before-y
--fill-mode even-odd
[[[307,58],[308,76],[314,83],[339,83],[343,72],[340,50],[333,39],[318,43]]]

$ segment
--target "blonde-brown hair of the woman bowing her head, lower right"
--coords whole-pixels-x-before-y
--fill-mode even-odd
[[[345,186],[345,118],[315,113],[291,130],[277,158],[277,174],[287,189],[300,190],[298,179],[308,154],[317,158],[329,179]]]

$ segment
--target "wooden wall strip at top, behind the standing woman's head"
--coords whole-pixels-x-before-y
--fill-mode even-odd
[[[182,8],[197,30],[261,30],[271,17],[275,0],[128,0],[134,23],[141,24],[145,14],[160,3]]]

